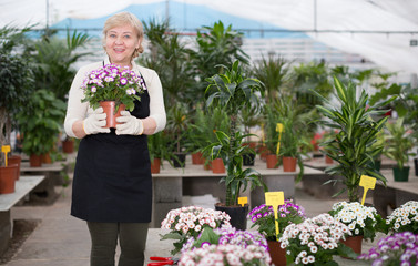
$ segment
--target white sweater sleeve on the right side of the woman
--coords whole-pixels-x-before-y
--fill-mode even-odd
[[[149,70],[147,73],[150,76],[147,81],[145,81],[150,94],[150,117],[155,120],[156,129],[154,133],[157,133],[164,130],[166,123],[163,88],[160,78],[154,70]]]

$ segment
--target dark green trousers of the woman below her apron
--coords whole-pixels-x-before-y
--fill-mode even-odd
[[[114,266],[116,245],[121,247],[119,266],[143,266],[147,223],[88,222],[92,248],[91,266]]]

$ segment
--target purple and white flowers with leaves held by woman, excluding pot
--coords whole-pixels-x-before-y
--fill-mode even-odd
[[[140,94],[146,90],[144,80],[129,68],[105,64],[88,73],[82,84],[84,99],[92,109],[98,109],[102,101],[115,101],[116,110],[124,104],[126,110],[135,108],[134,101],[141,101]]]

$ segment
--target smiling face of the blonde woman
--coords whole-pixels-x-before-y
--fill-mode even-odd
[[[105,51],[111,63],[131,68],[132,55],[141,42],[142,39],[129,23],[110,29],[105,34]]]

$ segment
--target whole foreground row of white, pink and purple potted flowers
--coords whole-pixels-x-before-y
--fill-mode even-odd
[[[252,231],[235,229],[223,212],[182,207],[162,222],[162,229],[170,232],[161,239],[176,241],[172,254],[181,254],[180,265],[326,265],[335,255],[373,265],[417,263],[418,202],[401,205],[387,219],[357,202],[336,203],[328,213],[312,218],[292,201],[285,201],[277,212],[278,235],[271,206],[251,211]],[[373,242],[378,232],[387,237],[366,254],[347,242],[353,236],[359,236],[360,243]],[[282,254],[276,254],[277,249]]]

